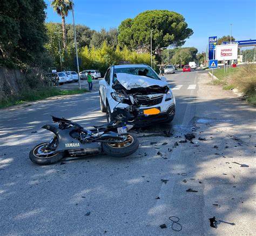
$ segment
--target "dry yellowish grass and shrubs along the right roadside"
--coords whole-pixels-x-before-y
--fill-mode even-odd
[[[218,79],[213,80],[213,85],[223,85],[223,89],[237,88],[244,93],[249,104],[256,106],[256,65],[246,64],[240,68],[214,70],[213,75]]]

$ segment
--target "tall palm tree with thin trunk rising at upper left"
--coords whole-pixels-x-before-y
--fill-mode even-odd
[[[69,11],[72,9],[72,2],[70,0],[52,0],[51,6],[57,14],[62,17],[62,33],[63,33],[63,45],[66,51],[66,22],[65,17],[68,16]]]

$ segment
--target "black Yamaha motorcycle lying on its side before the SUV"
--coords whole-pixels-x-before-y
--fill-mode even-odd
[[[29,158],[38,165],[57,163],[65,155],[84,157],[91,154],[106,153],[112,157],[126,157],[136,152],[139,141],[127,133],[132,125],[116,120],[94,129],[84,129],[71,120],[52,116],[57,125],[44,125],[42,128],[54,133],[52,139],[36,145]]]

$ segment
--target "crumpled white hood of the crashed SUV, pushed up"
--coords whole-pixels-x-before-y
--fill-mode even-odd
[[[166,82],[160,79],[152,79],[146,76],[136,76],[127,73],[117,73],[117,80],[122,84],[125,89],[130,90],[138,87],[150,87],[157,85],[164,87],[168,85]]]

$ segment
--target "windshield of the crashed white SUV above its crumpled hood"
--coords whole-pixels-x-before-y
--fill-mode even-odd
[[[149,67],[129,67],[129,68],[115,68],[114,69],[114,78],[113,83],[116,82],[117,77],[115,76],[116,73],[127,73],[134,76],[146,76],[152,79],[159,79],[157,74]]]

